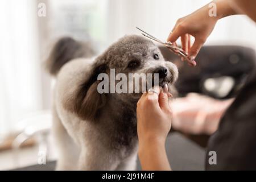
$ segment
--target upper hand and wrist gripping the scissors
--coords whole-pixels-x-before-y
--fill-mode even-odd
[[[210,9],[212,9],[212,6],[209,6],[210,3],[216,5],[217,16],[210,14]],[[229,0],[214,0],[210,3],[201,7],[194,13],[178,19],[172,33],[170,33],[167,39],[167,41],[174,43],[179,37],[181,38],[182,48],[184,51],[188,52],[188,56],[191,59],[188,63],[192,65],[196,65],[195,57],[213,31],[217,20],[225,16],[237,14],[237,11],[230,5]],[[191,35],[195,38],[195,42],[192,46],[190,43]]]

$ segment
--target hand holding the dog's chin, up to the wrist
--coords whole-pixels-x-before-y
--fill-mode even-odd
[[[155,90],[159,95],[144,93],[137,104],[139,142],[165,142],[171,129],[172,111],[168,102],[168,94],[160,88],[155,88]]]

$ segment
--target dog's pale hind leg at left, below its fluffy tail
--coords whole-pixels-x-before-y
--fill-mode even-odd
[[[77,160],[79,156],[79,148],[73,142],[67,133],[67,130],[61,123],[56,109],[52,109],[52,129],[57,150],[57,166],[56,170],[76,170]]]

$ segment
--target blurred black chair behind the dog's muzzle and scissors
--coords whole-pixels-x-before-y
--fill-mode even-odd
[[[176,82],[179,96],[195,92],[219,99],[234,97],[256,63],[254,49],[241,46],[205,46],[196,57],[196,67],[190,67],[166,47],[159,48],[164,58],[179,68]],[[204,88],[205,80],[222,76],[234,79],[234,86],[226,96],[216,96]]]

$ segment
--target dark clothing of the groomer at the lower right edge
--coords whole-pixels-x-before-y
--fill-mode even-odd
[[[216,151],[217,164],[208,162]],[[256,170],[256,70],[226,111],[210,137],[205,160],[207,170]]]

